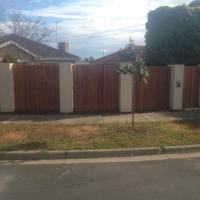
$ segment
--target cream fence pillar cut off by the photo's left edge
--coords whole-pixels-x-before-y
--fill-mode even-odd
[[[14,112],[14,77],[12,64],[0,63],[0,112]]]

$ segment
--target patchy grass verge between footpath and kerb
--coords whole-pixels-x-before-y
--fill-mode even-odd
[[[72,150],[200,144],[200,121],[110,125],[0,124],[0,150]]]

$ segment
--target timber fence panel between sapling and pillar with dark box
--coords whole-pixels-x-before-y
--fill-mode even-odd
[[[140,81],[135,86],[136,112],[165,111],[170,102],[170,68],[166,66],[148,67],[147,84]]]

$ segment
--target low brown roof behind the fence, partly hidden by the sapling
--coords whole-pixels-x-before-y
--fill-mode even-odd
[[[143,49],[144,46],[136,46],[137,49]],[[125,50],[121,49],[115,53],[96,59],[93,63],[120,63],[128,60],[123,56]]]

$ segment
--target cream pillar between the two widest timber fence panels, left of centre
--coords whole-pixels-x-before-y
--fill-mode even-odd
[[[71,63],[60,63],[60,112],[73,112],[73,68]]]

